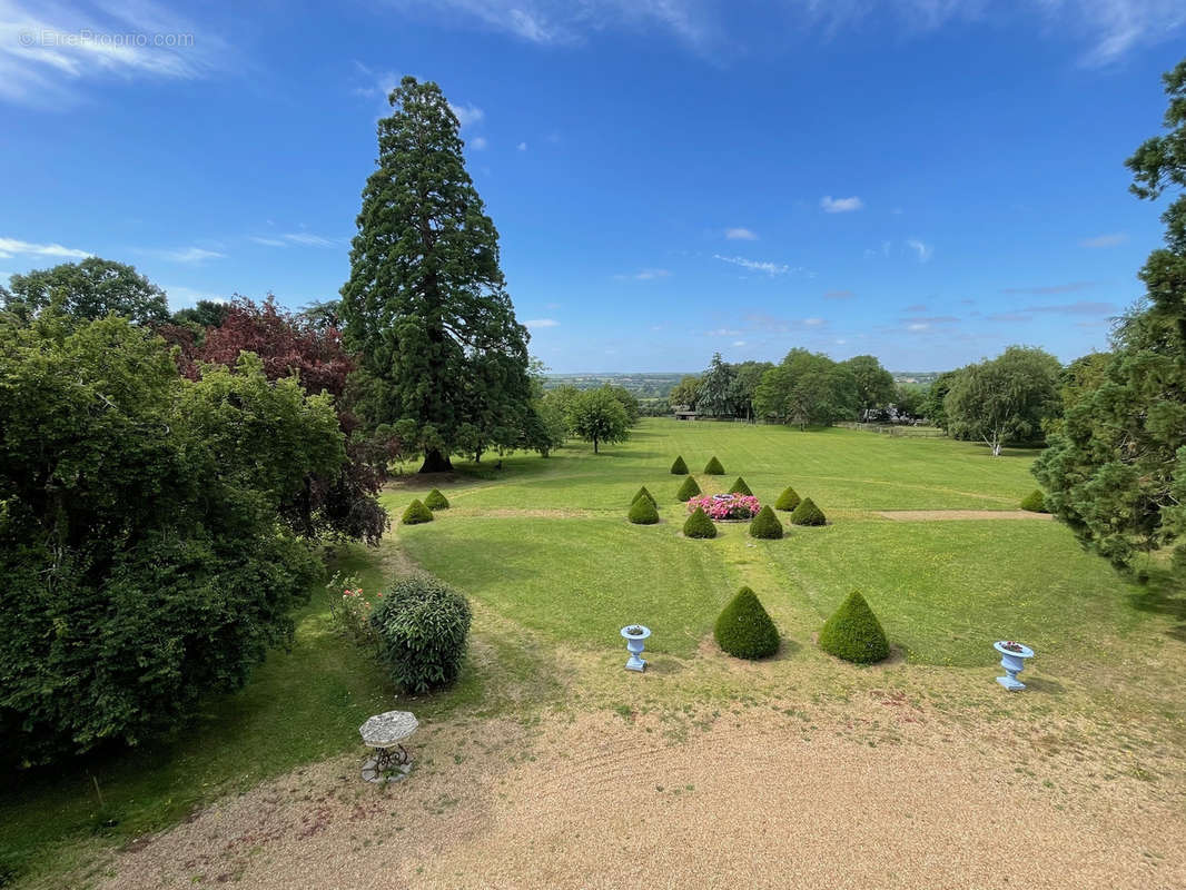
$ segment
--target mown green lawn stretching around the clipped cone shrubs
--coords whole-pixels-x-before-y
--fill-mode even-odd
[[[741,475],[772,502],[793,485],[830,525],[789,527],[780,541],[752,541],[744,525],[722,525],[710,541],[683,539],[681,478],[668,472],[676,454],[708,491]],[[725,476],[699,472],[714,454]],[[623,694],[617,632],[627,622],[652,628],[649,651],[661,675],[699,665],[687,674],[700,684],[695,694],[748,694],[738,684],[750,680],[704,673],[722,657],[706,649],[713,621],[742,584],[786,640],[763,682],[842,695],[847,684],[881,682],[879,668],[840,665],[811,640],[860,587],[904,663],[929,684],[958,688],[958,672],[978,670],[977,695],[989,695],[980,687],[991,682],[991,641],[1020,638],[1038,650],[1034,685],[1050,698],[1015,697],[1008,707],[1089,713],[1099,726],[1148,725],[1160,743],[1180,745],[1179,595],[1123,580],[1056,522],[901,522],[876,513],[1015,510],[1034,488],[1034,456],[993,458],[974,444],[848,430],[644,420],[629,443],[598,456],[574,444],[548,459],[509,456],[500,469],[461,464],[451,479],[407,478],[383,495],[393,516],[429,485],[445,490],[452,509],[394,529],[377,551],[350,549],[340,567],[375,590],[407,571],[410,558],[474,602],[473,656],[457,688],[415,703],[422,719],[608,706]],[[643,484],[659,501],[657,526],[625,519]],[[27,776],[6,790],[0,867],[17,863],[31,885],[59,885],[63,870],[98,863],[104,850],[197,806],[356,746],[358,724],[389,708],[395,691],[374,661],[331,634],[324,590],[296,618],[293,650],[273,654],[240,693],[209,701],[179,739]],[[593,667],[580,681],[555,676],[563,673],[560,650],[575,653],[569,673]],[[610,665],[614,673],[602,678]],[[672,675],[667,692],[651,686],[649,695],[676,706],[691,694],[687,676]],[[589,688],[598,692],[578,694]]]

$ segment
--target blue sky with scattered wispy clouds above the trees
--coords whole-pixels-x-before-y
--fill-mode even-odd
[[[130,36],[130,37],[129,37]],[[1104,348],[1181,0],[0,0],[0,280],[336,297],[385,91],[441,84],[557,371]]]

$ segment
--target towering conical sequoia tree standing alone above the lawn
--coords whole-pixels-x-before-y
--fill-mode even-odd
[[[452,469],[453,453],[522,440],[531,425],[528,332],[440,87],[404,77],[389,100],[340,313],[368,379],[368,420],[391,425],[423,451],[421,472],[435,472]]]

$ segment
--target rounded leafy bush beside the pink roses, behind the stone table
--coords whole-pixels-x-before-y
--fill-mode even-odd
[[[416,695],[457,680],[470,621],[465,597],[431,576],[396,581],[371,612],[391,676]]]

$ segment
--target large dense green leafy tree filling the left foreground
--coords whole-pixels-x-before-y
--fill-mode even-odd
[[[330,396],[51,313],[0,326],[0,759],[135,744],[291,638],[317,562],[280,511],[345,459]]]

